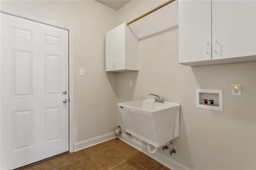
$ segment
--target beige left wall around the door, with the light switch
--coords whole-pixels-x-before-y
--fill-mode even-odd
[[[1,6],[58,22],[74,31],[74,142],[114,131],[114,73],[105,72],[105,33],[116,11],[91,1],[1,1]],[[79,69],[85,75],[79,76]]]

